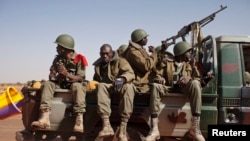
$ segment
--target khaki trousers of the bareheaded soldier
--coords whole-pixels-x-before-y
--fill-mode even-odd
[[[120,90],[114,92],[114,87],[111,84],[99,83],[97,86],[97,112],[101,117],[111,115],[111,94],[119,94],[120,101],[118,103],[121,120],[128,122],[133,112],[134,85],[126,83]]]

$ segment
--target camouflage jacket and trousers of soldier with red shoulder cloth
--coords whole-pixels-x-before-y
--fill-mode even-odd
[[[56,69],[58,62],[62,61],[64,63],[66,69],[69,73],[73,75],[82,76],[85,78],[85,67],[82,66],[81,62],[74,63],[74,59],[76,57],[76,53],[74,53],[71,60],[65,60],[60,56],[56,56],[53,60],[53,64],[50,67],[50,70]],[[59,80],[60,79],[60,80]],[[42,88],[42,97],[41,97],[41,105],[40,109],[51,109],[51,100],[54,95],[54,91],[56,88],[69,88],[73,93],[74,107],[73,110],[75,113],[84,113],[86,111],[86,82],[68,82],[67,78],[55,78],[54,81],[46,81],[44,82]]]

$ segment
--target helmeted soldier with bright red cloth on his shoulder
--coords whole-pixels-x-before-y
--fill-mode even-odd
[[[50,67],[49,80],[44,82],[41,91],[40,117],[38,121],[32,122],[34,128],[50,128],[49,114],[51,112],[51,101],[56,88],[70,89],[73,94],[73,111],[76,116],[74,131],[84,132],[83,114],[85,113],[86,84],[85,67],[87,60],[84,56],[74,51],[74,39],[67,34],[57,37],[58,55]]]

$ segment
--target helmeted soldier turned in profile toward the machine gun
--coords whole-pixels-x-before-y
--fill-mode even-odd
[[[168,88],[165,86],[165,79],[162,76],[155,76],[155,73],[152,73],[158,58],[155,51],[149,55],[145,50],[144,46],[148,42],[147,37],[148,34],[143,29],[134,30],[131,33],[131,41],[129,41],[125,58],[134,69],[136,91],[150,94],[151,128],[145,140],[155,141],[160,138],[158,129],[160,100],[163,95],[168,94]],[[149,50],[153,50],[153,47],[150,46]]]

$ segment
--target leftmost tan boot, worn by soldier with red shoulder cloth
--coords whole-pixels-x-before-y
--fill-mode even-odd
[[[31,123],[31,127],[49,129],[50,128],[49,115],[50,115],[49,109],[41,109],[38,121],[33,121]]]

